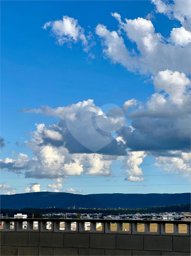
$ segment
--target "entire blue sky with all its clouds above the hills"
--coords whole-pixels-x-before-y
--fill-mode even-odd
[[[1,194],[190,191],[189,4],[1,2]]]

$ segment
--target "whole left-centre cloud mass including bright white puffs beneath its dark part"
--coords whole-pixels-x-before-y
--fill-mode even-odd
[[[52,178],[53,184],[48,184],[48,188],[58,190],[62,188],[62,181],[55,178],[80,176],[82,173],[110,176],[112,160],[109,155],[126,154],[123,143],[112,135],[125,124],[124,113],[120,108],[111,108],[108,113],[104,113],[92,100],[87,100],[58,109],[43,107],[38,112],[59,116],[60,122],[49,126],[37,124],[37,130],[32,133],[33,138],[25,142],[34,157],[29,159],[27,155],[19,154],[18,159],[6,158],[1,160],[1,168],[16,173],[24,171],[27,178]],[[72,136],[67,118],[76,129],[73,134],[80,134],[86,140],[85,145],[96,144],[99,153],[92,153],[80,144],[79,137]],[[90,148],[94,151],[95,145]],[[116,158],[114,156],[112,159]]]

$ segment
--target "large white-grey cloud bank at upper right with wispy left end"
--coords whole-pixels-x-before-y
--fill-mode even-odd
[[[134,20],[125,19],[125,22],[122,22],[120,14],[112,13],[112,16],[119,21],[120,31],[125,32],[128,39],[137,45],[137,49],[136,52],[128,50],[119,32],[111,32],[105,25],[98,24],[96,33],[102,40],[103,53],[111,61],[120,63],[130,71],[138,70],[144,74],[151,72],[157,75],[159,71],[169,68],[172,71],[190,74],[189,32],[182,29],[172,30],[171,38],[165,39],[160,33],[155,33],[155,28],[149,20],[139,17]],[[178,33],[184,34],[182,41],[178,38]]]

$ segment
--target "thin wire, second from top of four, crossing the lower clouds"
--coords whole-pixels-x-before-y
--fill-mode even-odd
[[[124,166],[148,166],[148,165],[171,165],[171,164],[186,164],[186,163],[191,163],[189,162],[174,162],[174,163],[154,163],[154,164],[142,164],[142,165],[115,165],[115,166],[83,166],[82,168],[101,168],[101,167],[124,167]],[[60,168],[60,169],[67,169],[67,168],[80,168],[79,167],[3,167],[0,169],[56,169],[56,168]]]

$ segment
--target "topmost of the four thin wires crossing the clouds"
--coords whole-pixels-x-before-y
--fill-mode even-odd
[[[130,152],[137,152],[137,151],[130,151]],[[129,153],[129,152],[128,152]],[[78,154],[78,153],[77,153]],[[143,154],[146,154],[146,153],[143,153]],[[142,156],[143,154],[136,154],[136,156]],[[101,155],[101,154],[100,154]],[[147,156],[150,156],[150,155],[171,155],[171,153],[166,153],[166,152],[164,152],[164,153],[149,153],[149,154],[147,154]],[[129,155],[124,155],[124,156],[122,156],[122,157],[127,157],[127,156],[132,156],[131,154],[129,154]],[[73,158],[96,158],[96,157],[98,157],[98,156],[76,156],[76,157],[72,157],[72,156],[62,156],[62,157],[40,157],[40,158],[10,158],[10,157],[7,157],[7,158],[10,158],[10,159],[20,159],[20,160],[38,160],[38,159],[62,159],[62,158],[71,158],[71,159],[73,159]],[[107,155],[107,157],[110,157],[110,156],[108,156]],[[121,156],[118,156],[118,155],[113,155],[113,156],[111,156],[111,157],[121,157]],[[7,158],[0,158],[0,160],[6,160]],[[99,157],[98,157],[99,158]]]

